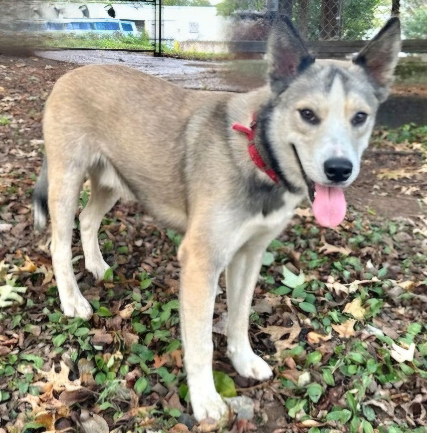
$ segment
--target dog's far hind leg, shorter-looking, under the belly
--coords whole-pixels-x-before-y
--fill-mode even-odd
[[[104,215],[119,198],[118,191],[102,187],[97,173],[91,174],[91,197],[82,210],[79,220],[86,269],[97,280],[104,278],[105,271],[109,268],[99,249],[98,229]]]

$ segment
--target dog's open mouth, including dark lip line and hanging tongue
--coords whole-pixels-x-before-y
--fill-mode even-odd
[[[308,196],[313,206],[314,217],[320,226],[338,226],[346,216],[347,210],[343,189],[320,185],[309,179],[304,171],[297,149],[294,145],[292,147],[298,159],[304,181],[307,184]]]

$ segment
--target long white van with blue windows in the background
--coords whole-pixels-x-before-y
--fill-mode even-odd
[[[108,35],[120,32],[123,35],[137,35],[138,30],[133,21],[115,18],[57,18],[57,19],[19,19],[13,21],[10,29],[21,32],[55,32],[55,33],[95,33]]]

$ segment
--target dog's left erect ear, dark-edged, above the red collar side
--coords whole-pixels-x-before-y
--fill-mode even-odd
[[[267,42],[268,78],[272,91],[281,93],[314,62],[287,16],[278,16]]]

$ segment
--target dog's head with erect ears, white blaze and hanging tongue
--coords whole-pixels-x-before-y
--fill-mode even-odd
[[[341,188],[359,174],[400,47],[399,20],[392,18],[353,61],[315,61],[289,19],[273,25],[271,95],[261,114],[279,174],[309,194],[315,185],[313,210],[322,225],[336,225],[333,213],[345,213]]]

